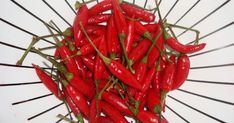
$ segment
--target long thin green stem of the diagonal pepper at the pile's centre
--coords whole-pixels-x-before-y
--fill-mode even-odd
[[[85,34],[86,38],[88,39],[89,43],[93,46],[93,48],[95,49],[95,51],[97,52],[97,54],[99,55],[99,57],[103,60],[103,62],[108,65],[111,62],[111,59],[107,58],[106,56],[104,56],[98,49],[97,47],[94,45],[94,43],[91,41],[90,37],[88,36],[87,32],[84,29],[84,26],[82,24],[82,22],[80,22],[80,27],[81,30],[83,31],[83,33]]]

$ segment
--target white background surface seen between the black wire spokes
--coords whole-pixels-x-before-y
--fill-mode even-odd
[[[154,0],[148,0],[153,3]],[[52,10],[50,10],[41,0],[17,0],[21,5],[30,10],[32,13],[42,18],[45,21],[54,20],[62,29],[65,29],[68,25],[61,20]],[[71,24],[73,22],[74,13],[68,8],[63,0],[47,0],[66,20]],[[69,0],[71,5],[74,5],[75,0]],[[138,5],[143,6],[142,0],[136,0]],[[161,8],[162,14],[165,15],[175,0],[163,0]],[[196,0],[180,0],[174,10],[168,16],[168,22],[175,22],[179,17],[193,4]],[[201,1],[184,19],[178,24],[184,26],[191,26],[199,19],[207,15],[210,11],[214,10],[217,6],[223,3],[224,0],[203,0]],[[147,7],[153,8],[154,4],[147,5]],[[231,1],[223,8],[218,10],[215,14],[208,17],[205,21],[195,26],[195,29],[200,30],[201,36],[208,34],[209,32],[224,26],[234,20],[233,12],[234,2]],[[48,34],[43,24],[36,20],[34,17],[20,9],[13,2],[9,0],[1,0],[0,4],[0,17],[18,25],[30,32],[38,35]],[[180,30],[178,30],[180,32]],[[209,36],[202,40],[207,43],[205,50],[225,46],[227,44],[234,43],[233,40],[234,28],[230,26],[224,30],[217,32],[216,34]],[[7,42],[20,47],[27,47],[31,40],[31,36],[21,32],[3,22],[0,22],[0,41]],[[181,40],[191,41],[189,33],[181,36]],[[41,42],[38,46],[48,45]],[[191,66],[207,66],[234,63],[233,57],[234,47],[229,47],[223,50],[218,50],[212,53],[196,56],[191,58]],[[13,49],[0,45],[0,63],[14,64],[22,55],[21,50]],[[24,65],[31,65],[31,63],[41,64],[41,58],[35,54],[30,54],[26,58]],[[213,80],[213,81],[230,81],[234,82],[234,67],[219,67],[209,69],[194,69],[191,70],[189,78],[199,80]],[[27,82],[37,81],[34,71],[32,69],[13,68],[0,66],[0,84],[14,83],[14,82]],[[234,103],[234,86],[233,85],[215,85],[215,84],[201,84],[186,82],[181,88],[196,92],[198,94],[210,96],[213,98],[229,101]],[[58,113],[66,114],[65,106],[60,106],[55,110],[52,110],[42,116],[27,121],[27,118],[33,116],[41,111],[44,111],[50,107],[53,107],[60,102],[53,96],[49,96],[40,100],[31,101],[28,103],[12,106],[11,103],[37,97],[40,95],[48,94],[49,91],[41,84],[27,85],[27,86],[15,86],[15,87],[0,87],[0,123],[12,123],[17,121],[18,123],[52,123],[58,120],[55,116]],[[207,100],[201,97],[192,96],[180,91],[171,92],[170,95],[174,96],[181,101],[200,109],[214,117],[217,117],[226,122],[234,122],[234,107],[222,104],[219,102]],[[191,122],[216,122],[178,102],[168,98],[167,105],[180,113],[188,121]],[[171,123],[183,122],[174,113],[167,109],[164,116]]]

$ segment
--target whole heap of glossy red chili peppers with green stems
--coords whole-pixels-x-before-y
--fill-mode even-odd
[[[180,43],[171,24],[136,5],[118,0],[77,5],[66,31],[54,34],[48,25],[56,26],[46,24],[51,35],[43,38],[56,41],[54,56],[33,47],[42,37],[34,37],[25,53],[34,51],[53,64],[53,72],[33,64],[40,80],[81,123],[127,123],[126,117],[167,123],[161,115],[166,94],[185,82],[187,54],[206,44]]]

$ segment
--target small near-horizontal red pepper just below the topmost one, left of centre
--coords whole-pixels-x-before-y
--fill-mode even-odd
[[[98,24],[102,22],[107,22],[111,17],[111,14],[98,14],[90,17],[88,19],[88,24]]]

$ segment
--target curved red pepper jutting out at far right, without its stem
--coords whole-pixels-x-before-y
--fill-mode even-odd
[[[202,50],[203,48],[205,48],[206,43],[201,43],[198,45],[183,45],[181,44],[179,41],[177,41],[176,39],[174,39],[173,37],[167,38],[166,39],[166,43],[174,50],[180,52],[180,53],[194,53],[197,51]]]

